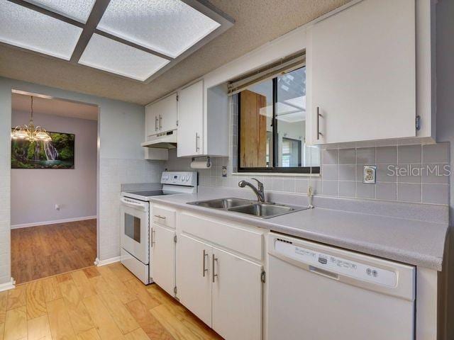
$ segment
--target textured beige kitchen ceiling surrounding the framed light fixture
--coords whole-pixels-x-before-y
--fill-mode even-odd
[[[146,104],[350,0],[211,0],[235,25],[150,84],[0,45],[0,76]]]

